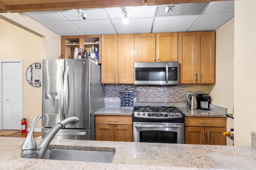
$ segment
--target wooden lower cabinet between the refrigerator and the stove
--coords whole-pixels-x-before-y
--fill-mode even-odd
[[[96,141],[132,142],[132,116],[95,116]]]

